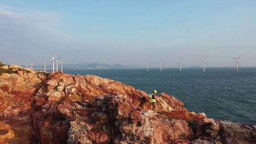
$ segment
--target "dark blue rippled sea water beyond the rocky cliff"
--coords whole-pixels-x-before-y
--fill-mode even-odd
[[[66,70],[92,74],[131,85],[147,93],[156,89],[184,102],[189,111],[204,112],[215,120],[256,124],[256,68],[177,68]]]

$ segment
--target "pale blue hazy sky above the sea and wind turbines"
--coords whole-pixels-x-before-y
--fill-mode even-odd
[[[0,0],[0,61],[256,66],[256,0]]]

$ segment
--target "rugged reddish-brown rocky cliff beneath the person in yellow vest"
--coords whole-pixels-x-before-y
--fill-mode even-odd
[[[161,93],[98,76],[0,65],[0,143],[256,144],[255,126],[188,112]]]

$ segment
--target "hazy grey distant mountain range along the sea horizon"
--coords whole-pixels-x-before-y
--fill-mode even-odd
[[[59,64],[59,68],[60,68]],[[23,66],[25,67],[25,66]],[[34,65],[35,69],[44,69],[44,65]],[[51,69],[52,65],[48,64],[46,65],[46,69]],[[142,68],[139,65],[136,64],[129,64],[129,65],[123,65],[123,64],[100,64],[100,63],[82,63],[82,64],[63,64],[63,68],[65,69],[103,69],[103,68]]]

